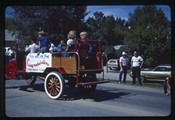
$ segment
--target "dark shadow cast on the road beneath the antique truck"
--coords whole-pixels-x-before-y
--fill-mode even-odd
[[[35,92],[35,91],[45,92],[43,83],[35,84],[32,90],[29,88],[29,86],[20,86],[19,90],[26,92]],[[92,99],[94,101],[101,102],[110,99],[121,98],[129,94],[131,93],[121,92],[119,91],[119,89],[113,89],[113,90],[96,89],[92,94],[84,95],[77,87],[75,88],[65,87],[63,97],[60,98],[59,100],[71,101],[79,99]]]

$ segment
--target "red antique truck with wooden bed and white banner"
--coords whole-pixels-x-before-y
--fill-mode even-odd
[[[28,84],[33,79],[44,80],[44,89],[51,99],[61,98],[64,94],[65,86],[78,87],[83,94],[91,94],[97,84],[109,82],[98,80],[96,74],[103,73],[103,59],[107,59],[101,52],[101,41],[90,41],[95,43],[96,49],[88,55],[86,64],[82,65],[80,55],[75,46],[74,52],[47,52],[29,53],[20,52],[18,44],[16,47],[16,57],[11,60],[6,59],[5,77],[8,79],[24,78]],[[71,57],[62,57],[61,54],[73,54]]]

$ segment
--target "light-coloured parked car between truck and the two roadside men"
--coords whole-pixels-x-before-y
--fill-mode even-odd
[[[107,67],[110,70],[117,70],[117,69],[119,69],[119,60],[118,59],[110,59],[107,62]]]

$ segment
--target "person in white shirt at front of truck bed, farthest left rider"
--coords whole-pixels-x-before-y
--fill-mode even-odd
[[[32,44],[29,46],[26,46],[25,52],[30,52],[30,53],[37,53],[39,52],[39,46],[36,44],[35,38],[31,38]]]

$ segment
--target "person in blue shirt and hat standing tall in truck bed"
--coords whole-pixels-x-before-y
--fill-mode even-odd
[[[44,31],[38,32],[38,43],[40,47],[40,52],[48,52],[48,37]]]

